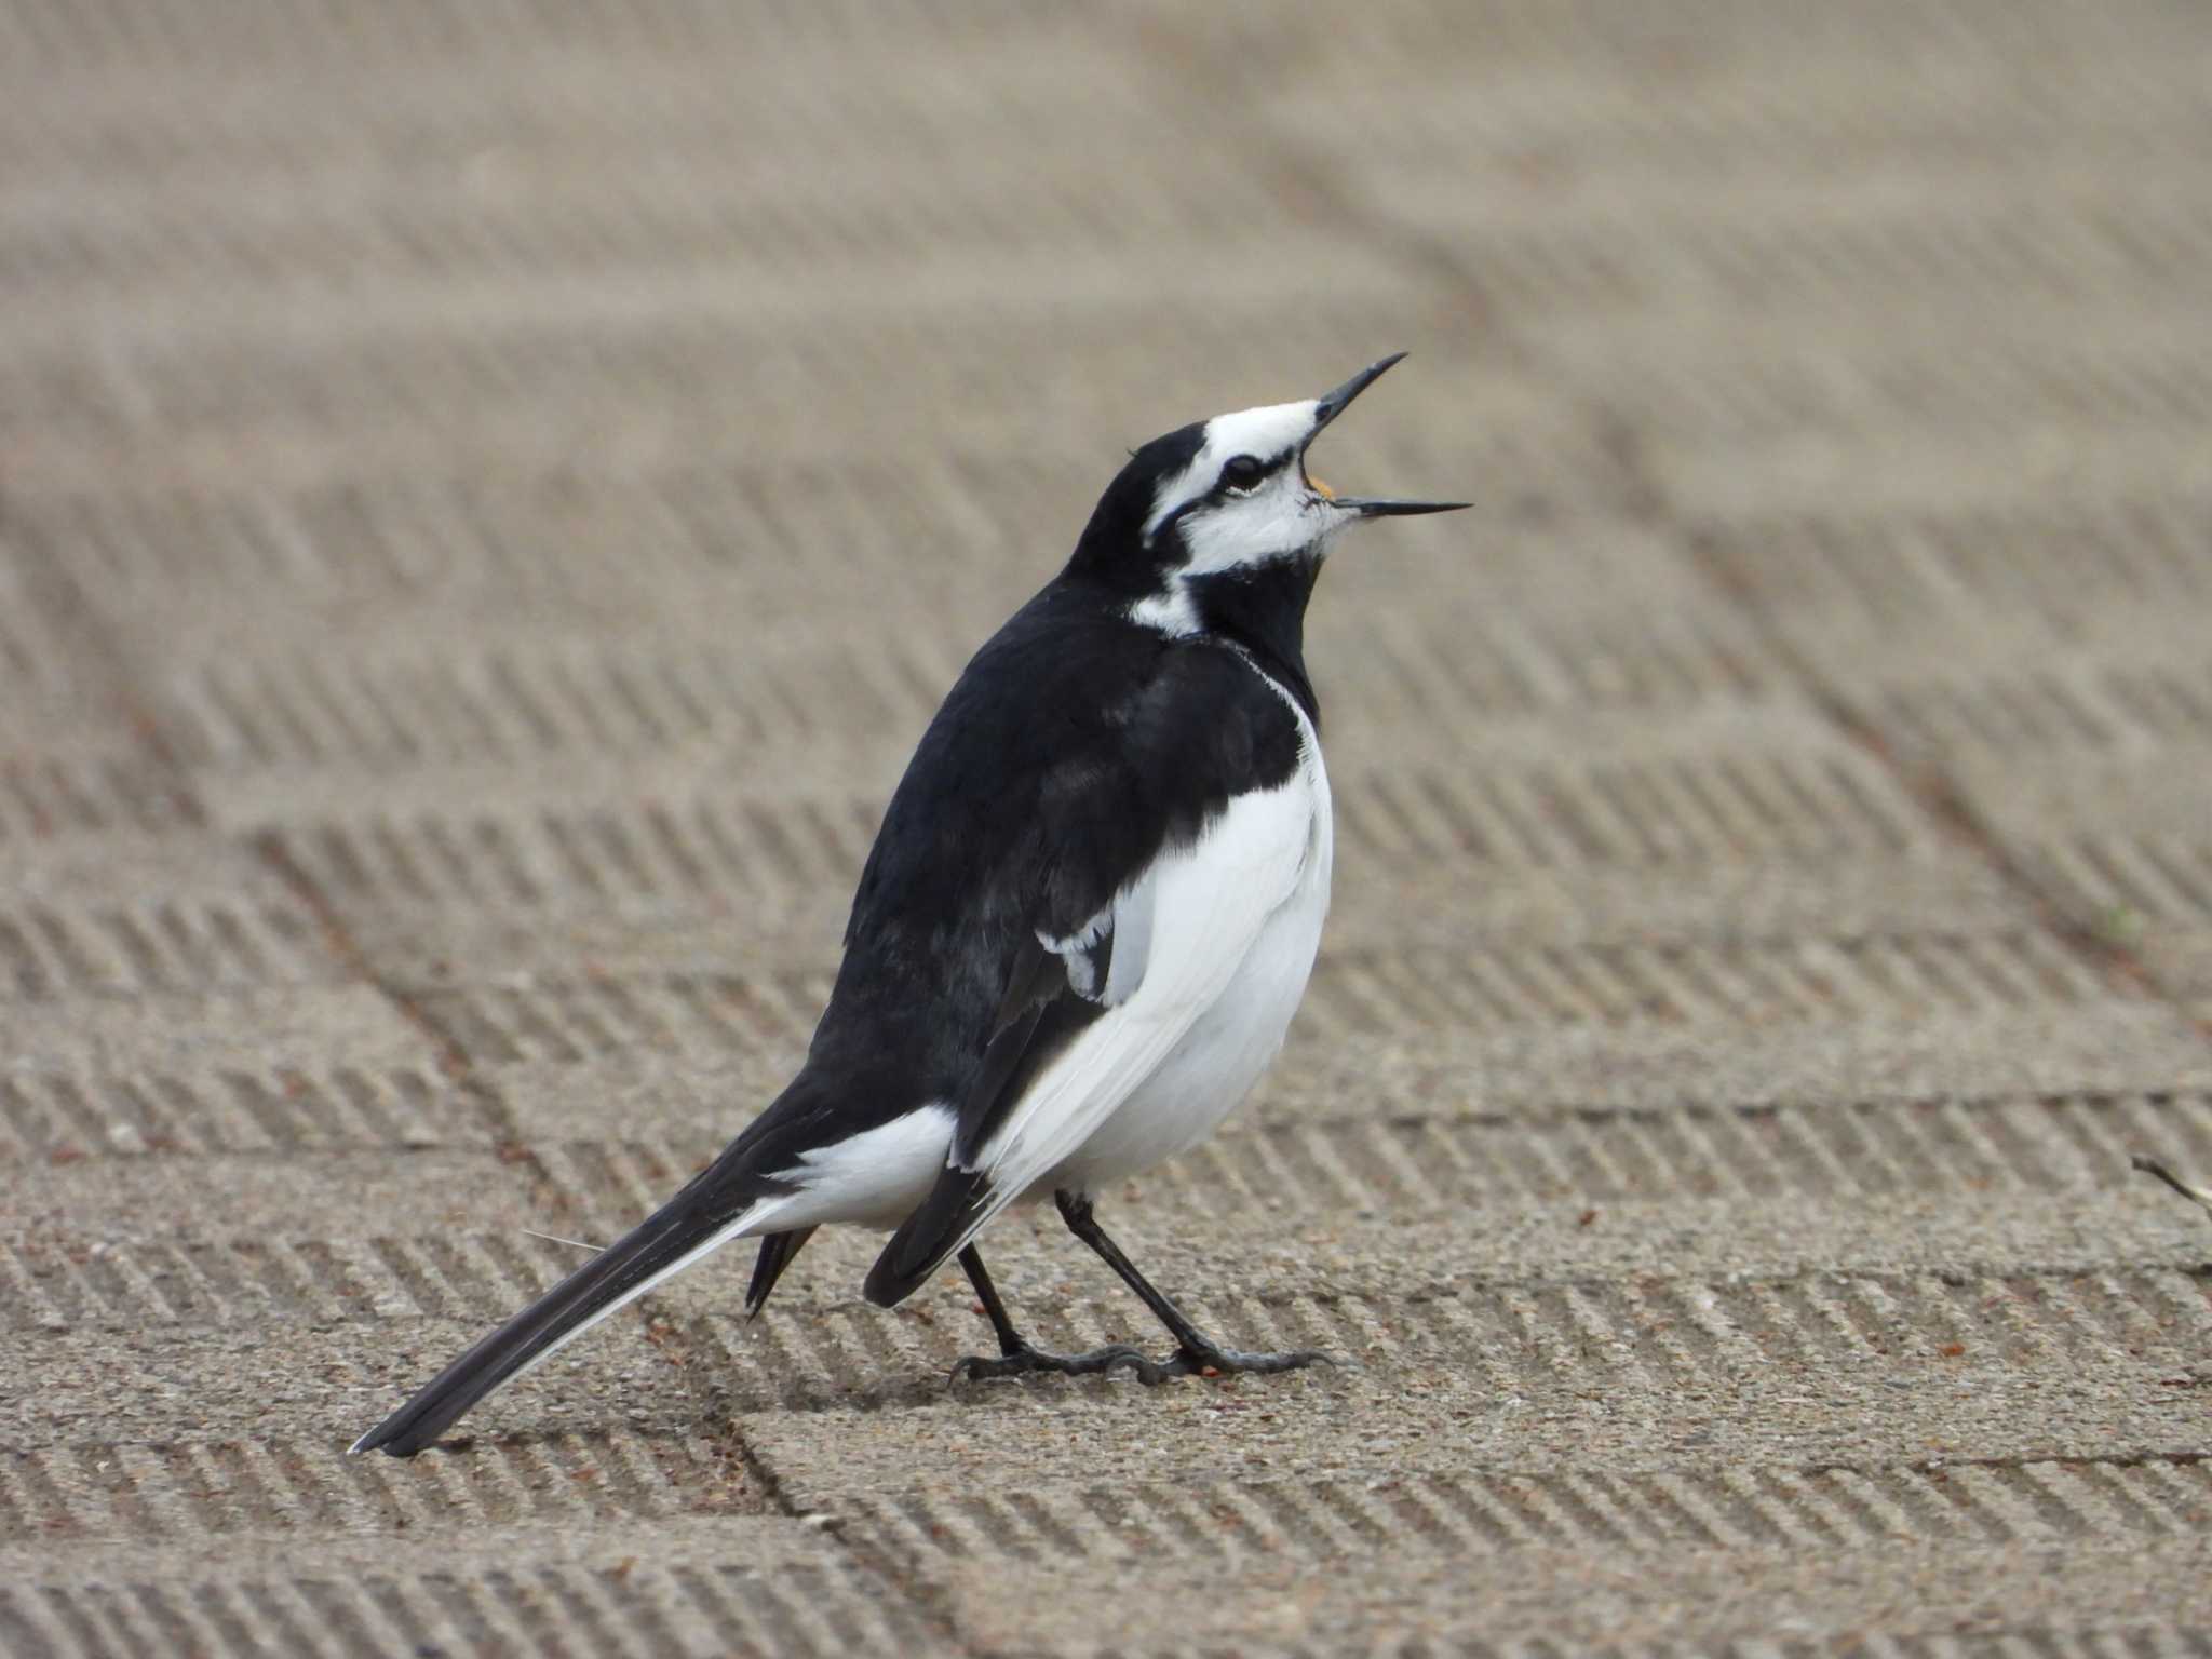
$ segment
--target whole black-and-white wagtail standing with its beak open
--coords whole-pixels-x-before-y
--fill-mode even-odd
[[[1097,1194],[1208,1139],[1283,1046],[1329,907],[1334,830],[1305,611],[1336,538],[1467,502],[1338,495],[1307,447],[1405,354],[1318,398],[1130,451],[1066,566],[931,717],[860,872],[805,1062],[637,1228],[478,1340],[354,1453],[465,1411],[732,1239],[745,1314],[816,1228],[889,1232],[880,1307],[958,1261],[998,1354],[953,1380],[1290,1371],[1223,1347],[1130,1263]],[[978,1234],[1051,1197],[1175,1338],[1035,1347]]]

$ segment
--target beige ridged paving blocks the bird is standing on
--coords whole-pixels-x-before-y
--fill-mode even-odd
[[[2212,13],[936,11],[0,4],[0,1650],[2212,1648]],[[1110,1194],[1347,1365],[818,1243],[341,1458],[790,1071],[1119,449],[1391,347],[1478,511]]]

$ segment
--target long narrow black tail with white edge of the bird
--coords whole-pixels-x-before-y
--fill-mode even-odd
[[[730,1186],[734,1183],[714,1179],[728,1157],[726,1152],[717,1166],[703,1170],[630,1232],[438,1371],[407,1405],[361,1436],[349,1451],[416,1455],[445,1433],[462,1411],[551,1358],[555,1349],[573,1343],[617,1307],[637,1301],[730,1239],[765,1228],[779,1208],[779,1194],[763,1194],[754,1188],[732,1203],[737,1194],[730,1192]]]

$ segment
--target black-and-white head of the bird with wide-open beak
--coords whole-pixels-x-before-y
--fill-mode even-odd
[[[1099,498],[1075,568],[1128,588],[1137,622],[1197,633],[1210,588],[1272,573],[1310,586],[1329,542],[1347,526],[1467,507],[1338,495],[1305,469],[1321,429],[1402,356],[1396,352],[1318,398],[1239,409],[1144,445]]]

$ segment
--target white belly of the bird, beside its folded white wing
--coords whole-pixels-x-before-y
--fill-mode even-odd
[[[1296,889],[1261,927],[1214,1004],[1082,1150],[1035,1190],[1095,1190],[1188,1152],[1221,1128],[1221,1119],[1237,1110],[1281,1053],[1321,949],[1336,854],[1329,779],[1310,728],[1301,785],[1312,801],[1312,841]]]

